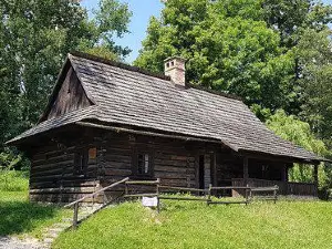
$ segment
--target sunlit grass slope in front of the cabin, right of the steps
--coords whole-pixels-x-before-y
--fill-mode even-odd
[[[255,203],[209,206],[163,201],[158,215],[138,203],[104,209],[54,248],[332,248],[332,204]]]

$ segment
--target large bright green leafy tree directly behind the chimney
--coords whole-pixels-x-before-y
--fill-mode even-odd
[[[170,55],[187,59],[194,84],[241,96],[249,105],[276,110],[292,97],[293,59],[267,27],[257,0],[169,0],[152,18],[135,64],[162,72]]]

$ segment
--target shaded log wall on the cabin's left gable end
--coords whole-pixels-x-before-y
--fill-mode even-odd
[[[86,144],[87,147],[94,145]],[[55,142],[34,149],[31,157],[30,200],[69,203],[98,187],[97,157],[89,159],[85,175],[74,173],[77,146],[59,146]]]

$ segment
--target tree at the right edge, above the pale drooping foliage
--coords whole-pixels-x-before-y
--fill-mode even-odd
[[[331,30],[308,29],[297,46],[301,68],[301,117],[309,122],[319,137],[332,137],[332,43]]]

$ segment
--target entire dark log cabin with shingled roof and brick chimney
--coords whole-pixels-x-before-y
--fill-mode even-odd
[[[185,74],[178,56],[157,75],[69,54],[38,124],[8,142],[31,160],[30,199],[68,203],[127,176],[318,195],[324,158],[273,134],[240,98],[191,85]],[[294,163],[312,167],[312,183],[288,180]]]

